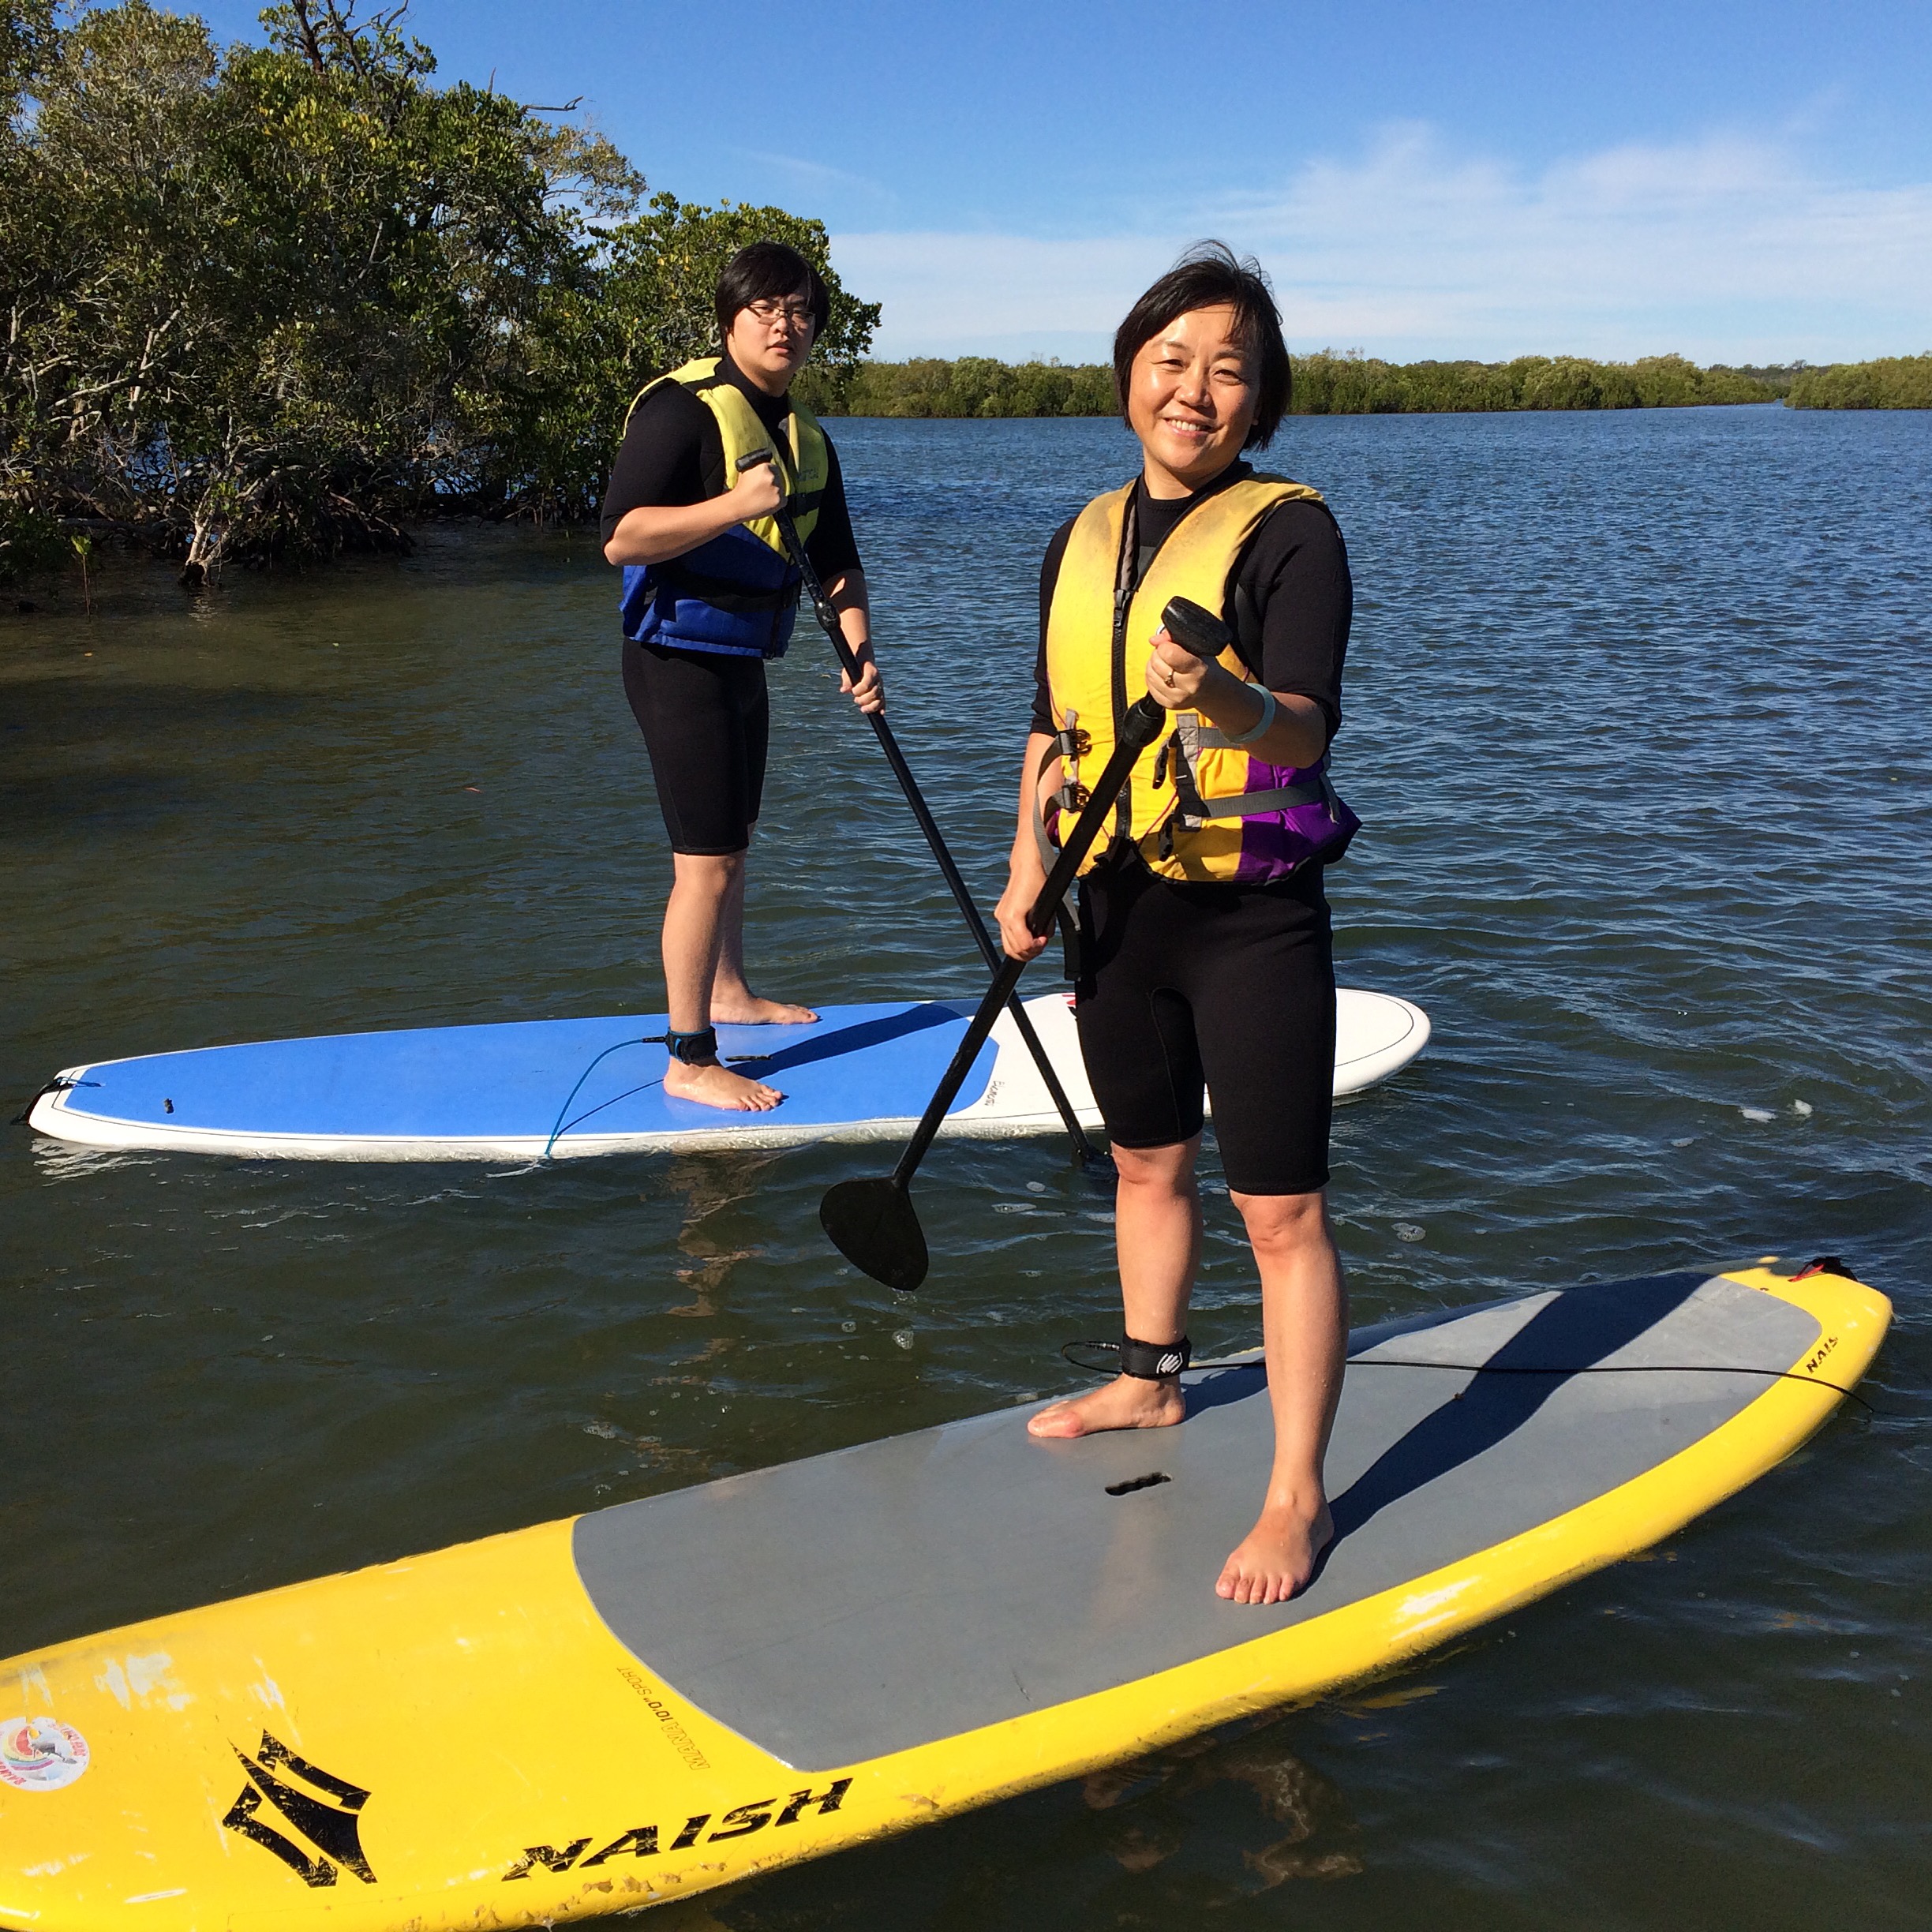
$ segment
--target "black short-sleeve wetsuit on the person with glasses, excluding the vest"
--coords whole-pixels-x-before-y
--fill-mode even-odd
[[[726,355],[721,369],[773,433],[784,435],[786,396],[767,396]],[[806,539],[821,582],[860,568],[838,452],[827,437],[831,475],[819,520]],[[603,502],[603,541],[630,510],[672,508],[723,497],[724,439],[717,417],[676,383],[661,383],[624,425]],[[643,730],[657,802],[672,852],[742,852],[765,792],[771,699],[765,661],[719,651],[624,643],[624,696]]]

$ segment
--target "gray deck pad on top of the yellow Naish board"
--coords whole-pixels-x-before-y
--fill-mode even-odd
[[[603,1509],[578,1520],[578,1573],[661,1679],[786,1764],[829,1770],[1488,1549],[1708,1435],[1768,1387],[1739,1370],[1789,1370],[1816,1335],[1789,1302],[1704,1273],[1360,1331],[1327,1463],[1337,1540],[1267,1609],[1213,1594],[1267,1478],[1258,1362],[1192,1372],[1173,1430],[1041,1443],[1016,1406]],[[1107,1493],[1155,1472],[1169,1480]]]

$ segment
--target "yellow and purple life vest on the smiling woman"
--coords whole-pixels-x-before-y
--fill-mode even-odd
[[[1321,502],[1306,483],[1244,475],[1194,504],[1134,583],[1132,498],[1128,483],[1080,512],[1047,609],[1047,690],[1061,726],[1063,804],[1084,800],[1080,763],[1092,759],[1092,771],[1107,763],[1119,721],[1146,692],[1167,601],[1188,597],[1233,626],[1223,609],[1229,578],[1262,518],[1281,502]],[[1250,680],[1233,645],[1219,661]],[[1105,840],[1095,840],[1080,869],[1092,871],[1126,840],[1163,879],[1279,879],[1314,856],[1296,825],[1296,813],[1306,817],[1312,806],[1323,821],[1329,808],[1347,813],[1321,765],[1306,773],[1267,765],[1231,746],[1198,711],[1177,711],[1173,730],[1142,752],[1121,792],[1113,844],[1101,850]]]

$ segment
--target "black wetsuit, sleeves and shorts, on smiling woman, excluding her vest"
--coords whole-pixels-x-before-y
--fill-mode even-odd
[[[1138,487],[1136,576],[1227,479],[1182,498]],[[1057,531],[1039,572],[1037,732],[1055,728],[1045,630],[1070,531],[1072,522]],[[1333,738],[1354,591],[1327,508],[1291,500],[1264,518],[1229,572],[1223,609],[1248,618],[1236,636],[1250,672],[1273,692],[1314,699]],[[1277,885],[1192,883],[1155,877],[1128,852],[1088,875],[1086,929],[1074,1012],[1113,1144],[1192,1140],[1206,1088],[1236,1194],[1325,1186],[1335,964],[1321,867],[1306,866]]]

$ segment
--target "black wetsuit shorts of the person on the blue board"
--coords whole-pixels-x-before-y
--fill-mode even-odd
[[[765,661],[626,641],[624,696],[651,753],[670,850],[742,852],[765,796]]]

